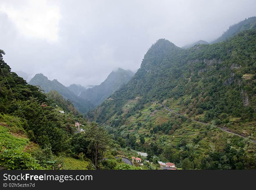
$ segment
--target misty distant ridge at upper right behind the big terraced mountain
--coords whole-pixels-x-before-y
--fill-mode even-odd
[[[234,24],[230,26],[227,31],[223,33],[221,37],[211,42],[211,44],[218,43],[221,41],[224,41],[230,36],[233,36],[237,34],[238,32],[241,32],[243,30],[250,30],[256,28],[256,16],[255,17],[249,17],[248,19],[245,19],[237,24]]]

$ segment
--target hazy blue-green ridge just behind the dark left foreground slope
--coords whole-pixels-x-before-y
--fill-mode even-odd
[[[74,106],[81,112],[86,113],[89,109],[94,108],[91,102],[79,98],[72,91],[70,91],[66,86],[58,82],[56,79],[49,80],[42,73],[36,74],[29,82],[31,85],[40,86],[45,93],[50,91],[57,91],[65,99],[70,99]]]

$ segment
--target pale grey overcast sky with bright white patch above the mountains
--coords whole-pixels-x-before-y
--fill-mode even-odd
[[[97,85],[115,68],[136,71],[159,38],[210,42],[255,15],[256,0],[0,0],[0,49],[14,71]]]

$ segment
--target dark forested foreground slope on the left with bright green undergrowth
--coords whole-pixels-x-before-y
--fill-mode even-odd
[[[0,168],[105,169],[97,155],[114,155],[120,147],[106,129],[88,123],[56,91],[44,94],[27,84],[11,72],[4,54],[0,50]]]

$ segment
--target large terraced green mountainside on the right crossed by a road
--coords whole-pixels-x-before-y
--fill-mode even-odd
[[[255,169],[255,55],[256,30],[187,50],[159,39],[88,117],[183,169]]]

